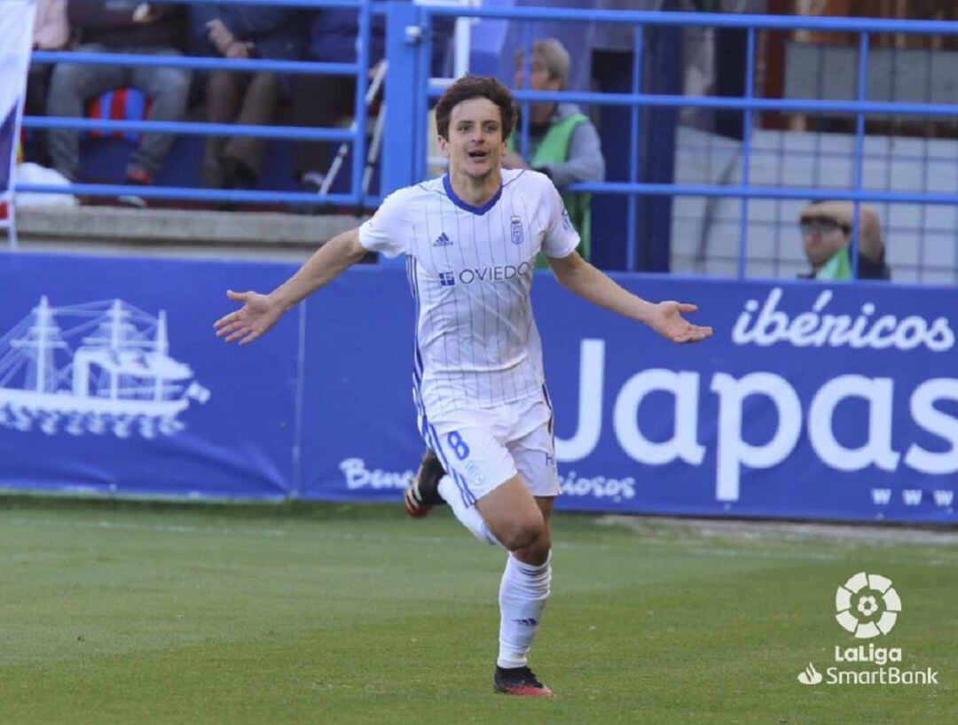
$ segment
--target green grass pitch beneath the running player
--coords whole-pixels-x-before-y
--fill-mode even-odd
[[[503,553],[445,510],[0,499],[0,722],[958,722],[954,534],[859,538],[557,514],[531,664],[493,694]],[[878,642],[937,686],[803,686],[893,580]]]

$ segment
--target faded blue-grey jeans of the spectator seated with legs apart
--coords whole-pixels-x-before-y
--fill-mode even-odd
[[[151,56],[180,56],[174,48],[106,48],[98,43],[81,45],[81,52],[136,53]],[[80,65],[59,63],[54,68],[47,99],[47,115],[83,117],[83,105],[106,91],[131,86],[150,99],[149,121],[182,121],[190,94],[191,73],[186,68],[117,65]],[[48,135],[50,158],[54,168],[70,179],[80,173],[80,140],[76,131],[53,129]],[[154,177],[163,168],[175,136],[171,133],[145,133],[134,149],[126,175]]]

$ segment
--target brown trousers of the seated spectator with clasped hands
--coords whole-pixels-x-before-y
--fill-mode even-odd
[[[206,120],[211,124],[269,125],[280,103],[274,73],[215,71],[206,83]],[[203,185],[255,186],[268,139],[210,136],[203,153]]]

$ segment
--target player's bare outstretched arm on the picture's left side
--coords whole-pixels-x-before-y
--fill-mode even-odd
[[[214,323],[217,337],[226,342],[239,340],[240,345],[253,342],[276,325],[287,309],[336,279],[365,254],[366,248],[359,243],[359,230],[353,229],[331,238],[296,274],[268,295],[227,290],[226,296],[242,306]]]

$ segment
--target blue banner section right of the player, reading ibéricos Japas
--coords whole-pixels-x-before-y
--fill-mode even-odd
[[[954,290],[620,281],[696,303],[716,333],[674,346],[590,306],[540,316],[566,505],[955,520]]]

